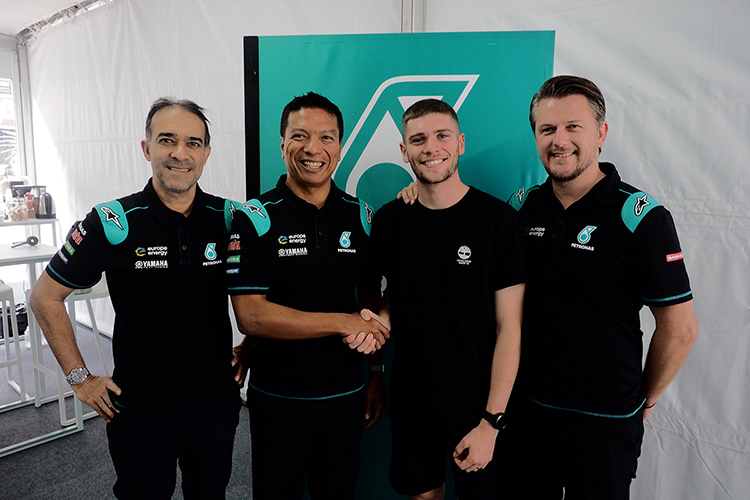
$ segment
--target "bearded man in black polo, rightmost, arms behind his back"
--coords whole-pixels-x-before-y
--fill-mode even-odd
[[[666,208],[599,161],[609,126],[593,82],[548,80],[529,119],[549,178],[510,200],[529,270],[510,498],[626,499],[643,422],[698,334],[680,242]],[[656,330],[642,368],[644,305]]]

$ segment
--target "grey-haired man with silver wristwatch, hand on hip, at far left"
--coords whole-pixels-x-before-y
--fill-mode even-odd
[[[234,206],[198,187],[209,143],[203,108],[154,102],[141,141],[152,179],[94,207],[32,291],[68,383],[107,421],[117,498],[171,498],[178,463],[186,499],[223,499],[231,475],[241,401],[224,263]],[[64,303],[102,272],[115,309],[112,377],[86,368]]]

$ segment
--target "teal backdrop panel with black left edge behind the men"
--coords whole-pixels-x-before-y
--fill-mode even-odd
[[[401,116],[425,97],[458,113],[466,134],[459,163],[465,183],[507,200],[542,182],[528,114],[533,94],[552,76],[554,39],[552,31],[246,37],[247,198],[286,173],[281,112],[308,91],[328,97],[344,115],[336,184],[374,208],[413,179],[399,149]],[[391,348],[383,350],[387,366]],[[390,487],[389,458],[386,411],[363,433],[358,500],[407,498]],[[455,499],[450,476],[446,481],[446,498]]]

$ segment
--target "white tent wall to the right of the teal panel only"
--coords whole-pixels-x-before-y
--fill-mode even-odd
[[[591,78],[607,99],[602,159],[675,218],[701,333],[647,422],[636,499],[750,498],[748,21],[746,1],[435,0],[425,12],[426,31],[555,30],[555,74]]]

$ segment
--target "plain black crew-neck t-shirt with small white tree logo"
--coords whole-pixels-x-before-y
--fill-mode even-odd
[[[477,189],[455,205],[382,207],[373,242],[390,296],[393,413],[476,422],[497,338],[495,292],[523,283],[517,216]]]

